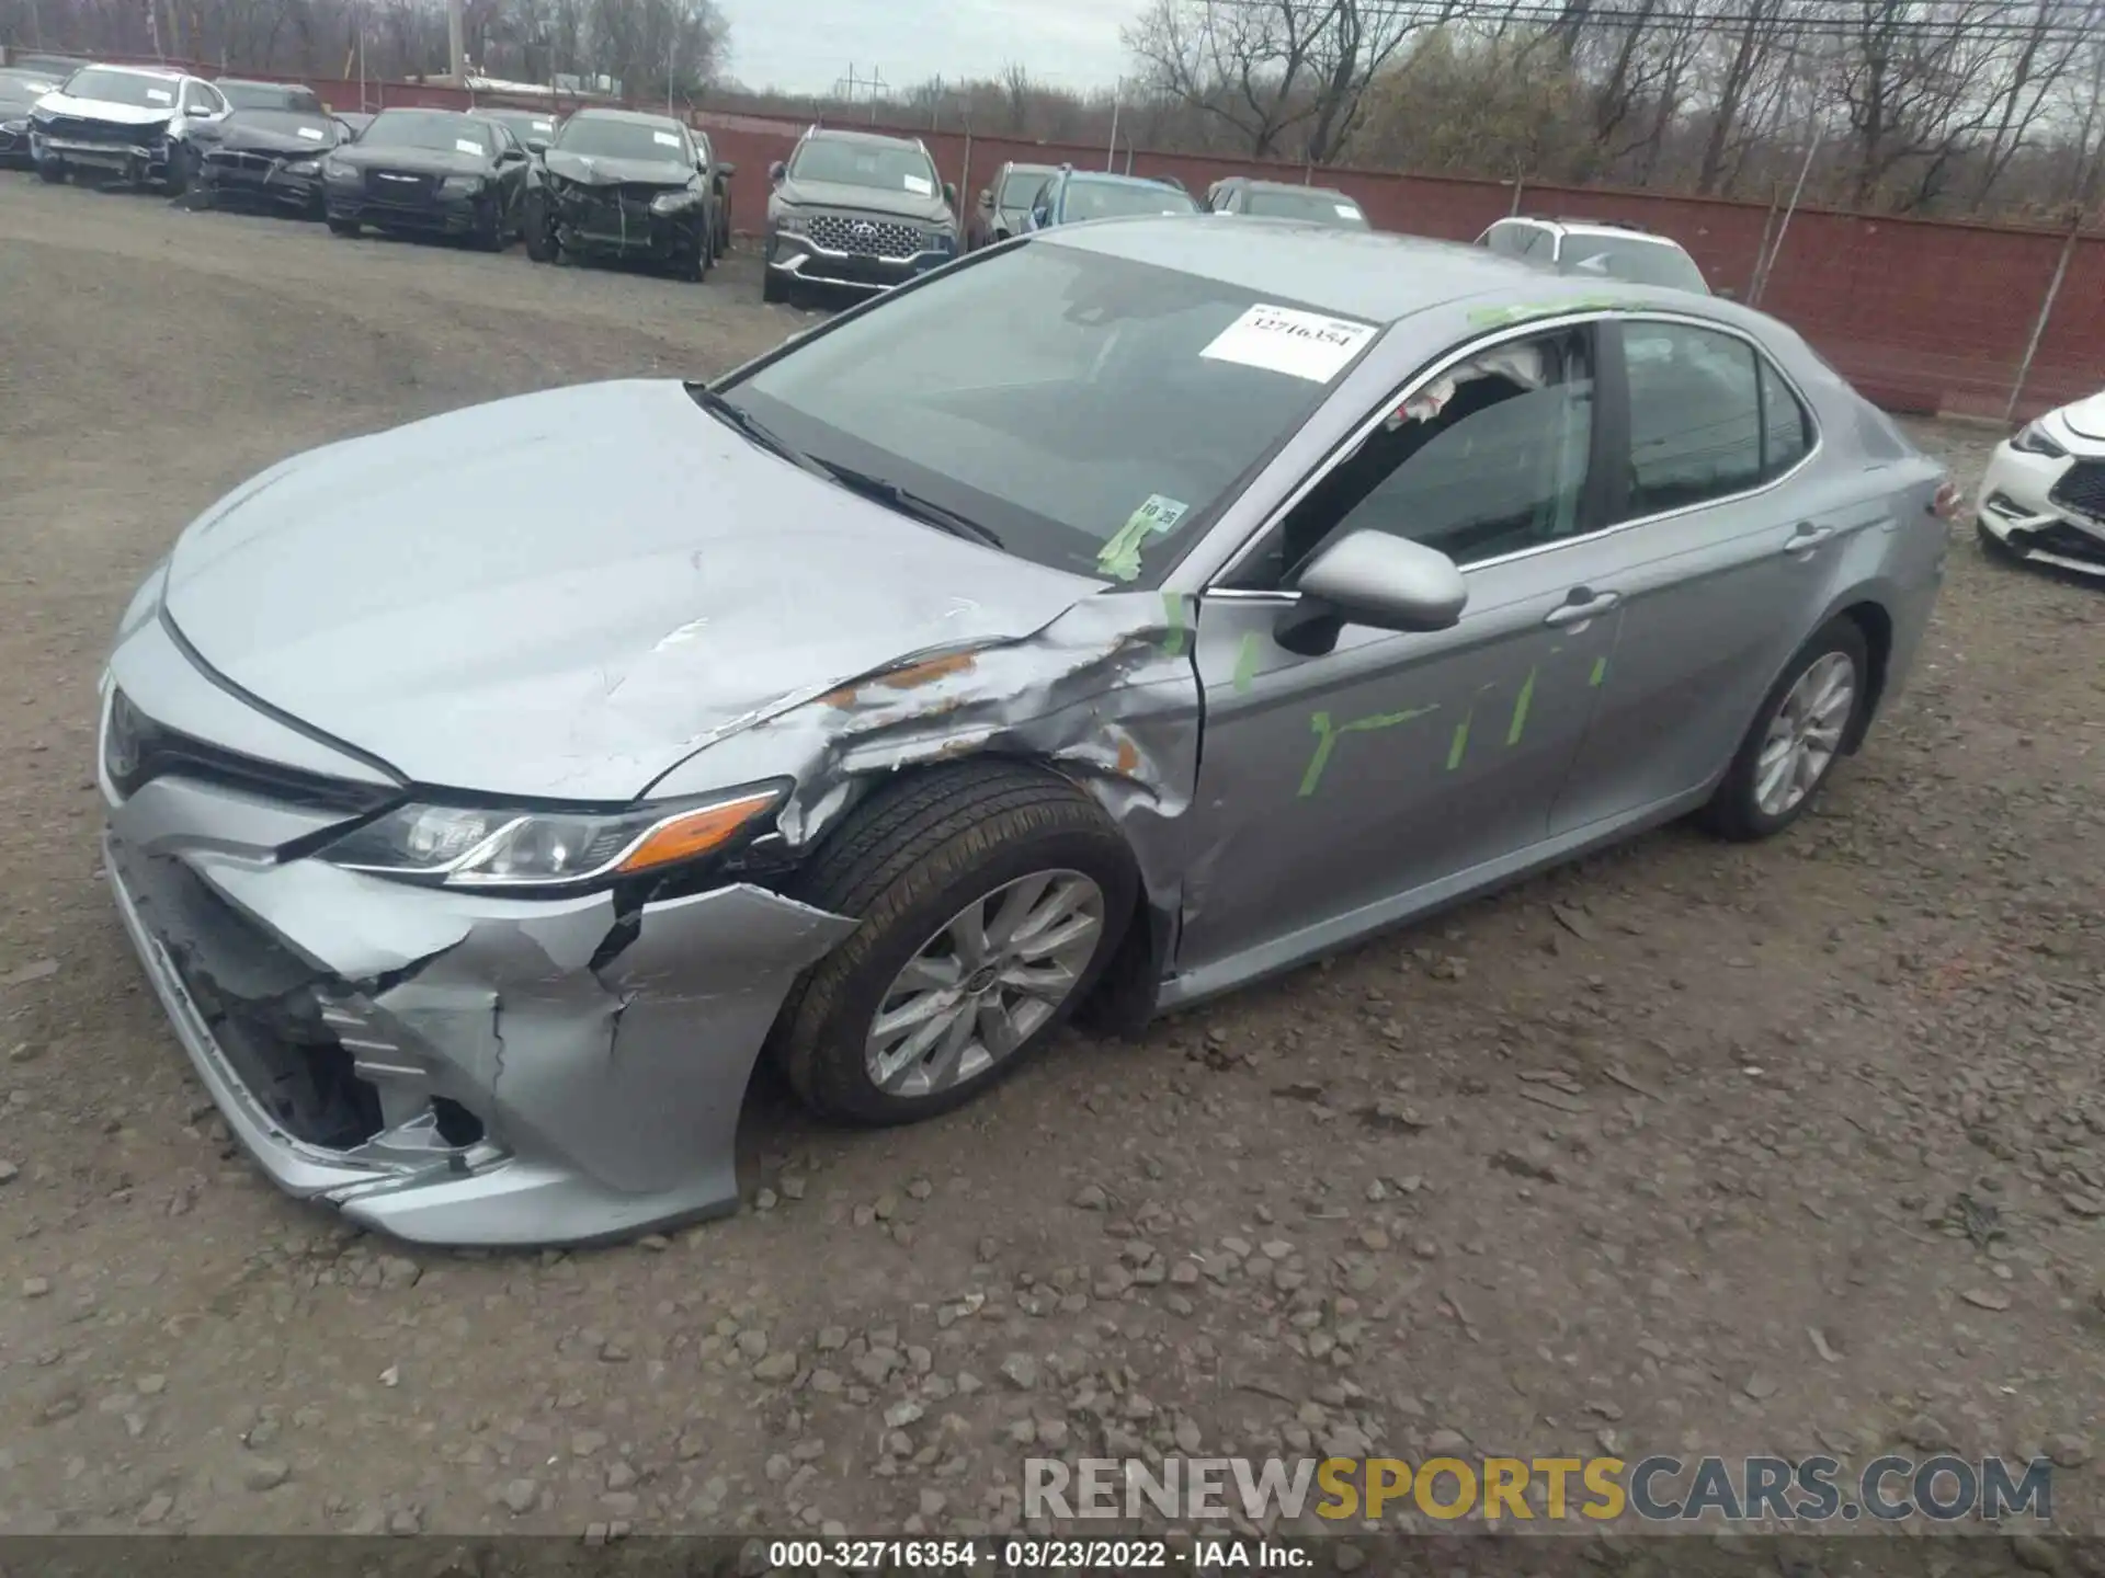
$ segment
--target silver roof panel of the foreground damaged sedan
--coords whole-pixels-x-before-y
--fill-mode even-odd
[[[1236,223],[1225,246],[1215,215],[1105,219],[1040,231],[1034,244],[1154,263],[1250,290],[1269,301],[1305,301],[1364,322],[1389,324],[1415,311],[1465,297],[1503,297],[1516,305],[1553,309],[1558,301],[1598,303],[1602,282],[1545,274],[1532,263],[1482,246],[1330,229],[1284,219]],[[1612,282],[1617,297],[1644,305],[1697,301],[1686,290]]]

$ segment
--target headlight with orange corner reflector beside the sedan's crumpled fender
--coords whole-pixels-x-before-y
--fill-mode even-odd
[[[322,858],[446,888],[575,886],[722,850],[775,810],[785,789],[610,812],[398,806],[324,848]]]

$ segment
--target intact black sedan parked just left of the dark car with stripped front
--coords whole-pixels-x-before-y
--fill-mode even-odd
[[[533,164],[503,126],[459,109],[383,109],[322,160],[328,227],[459,236],[503,250],[524,219]]]

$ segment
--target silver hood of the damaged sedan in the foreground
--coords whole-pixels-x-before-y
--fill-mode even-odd
[[[621,802],[760,711],[1029,635],[1095,589],[623,381],[272,467],[183,532],[166,612],[221,675],[415,783]]]

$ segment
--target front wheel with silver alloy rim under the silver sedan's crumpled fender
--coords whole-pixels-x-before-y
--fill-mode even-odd
[[[815,1113],[911,1124],[1042,1048],[1118,949],[1139,877],[1095,800],[1057,774],[966,764],[884,789],[796,896],[861,919],[775,1025]]]

